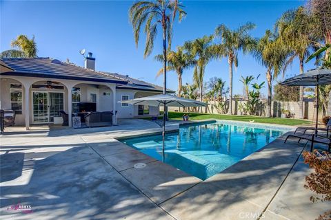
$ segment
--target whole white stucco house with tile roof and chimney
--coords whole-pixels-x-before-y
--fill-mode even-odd
[[[94,70],[95,58],[88,54],[85,67],[53,58],[3,58],[0,73],[0,109],[16,112],[15,124],[50,124],[59,111],[113,111],[117,118],[158,115],[158,107],[132,106],[121,100],[161,94],[162,87]],[[171,91],[170,91],[171,92]]]

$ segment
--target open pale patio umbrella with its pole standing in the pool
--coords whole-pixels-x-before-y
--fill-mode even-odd
[[[177,96],[172,96],[168,94],[160,94],[155,96],[147,96],[143,98],[134,98],[132,100],[120,101],[121,103],[128,104],[142,104],[149,105],[154,107],[206,107],[208,104],[205,102],[199,102],[197,100],[191,100],[187,98],[180,98]],[[163,111],[163,132],[162,132],[162,140],[163,140],[163,148],[164,151],[165,143],[165,111]]]

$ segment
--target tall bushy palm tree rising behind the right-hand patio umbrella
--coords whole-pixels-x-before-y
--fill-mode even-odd
[[[303,7],[296,10],[284,12],[281,18],[276,22],[275,29],[279,34],[279,42],[282,47],[288,47],[288,60],[283,69],[283,74],[292,64],[294,58],[299,58],[299,71],[303,74],[303,63],[309,56],[310,48],[313,46],[314,39],[311,34],[312,19],[305,12]],[[300,113],[299,118],[303,118],[303,87],[300,87],[299,93]]]

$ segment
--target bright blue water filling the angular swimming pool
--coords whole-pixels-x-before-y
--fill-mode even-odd
[[[286,130],[247,125],[195,124],[177,133],[134,137],[121,142],[200,179],[207,179],[272,142]]]

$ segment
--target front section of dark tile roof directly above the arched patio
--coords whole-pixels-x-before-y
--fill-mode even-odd
[[[52,58],[3,58],[1,61],[15,70],[14,72],[1,72],[1,75],[62,78],[120,84],[128,83],[127,80],[110,76],[103,72],[79,67],[72,63],[63,63]]]

